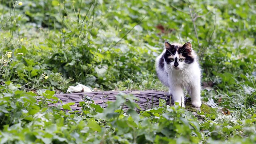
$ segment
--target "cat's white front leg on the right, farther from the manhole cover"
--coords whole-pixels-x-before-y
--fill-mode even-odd
[[[190,87],[190,96],[191,96],[191,104],[195,107],[200,108],[201,107],[201,98],[200,98],[200,82],[195,82]]]

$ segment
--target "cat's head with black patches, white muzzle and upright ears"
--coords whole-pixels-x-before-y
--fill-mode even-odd
[[[166,48],[164,59],[169,69],[184,69],[194,62],[196,56],[193,54],[190,42],[186,42],[184,45],[172,45],[165,41],[164,44]]]

